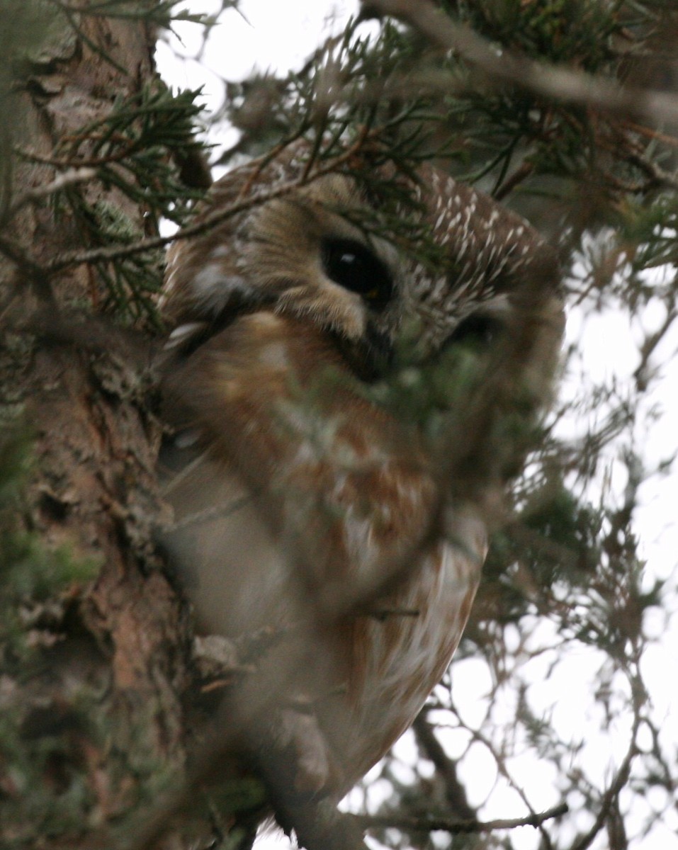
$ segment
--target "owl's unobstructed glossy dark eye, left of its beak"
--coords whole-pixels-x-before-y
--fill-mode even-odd
[[[357,292],[372,309],[382,310],[393,296],[393,278],[370,248],[353,239],[325,239],[321,247],[325,275]]]

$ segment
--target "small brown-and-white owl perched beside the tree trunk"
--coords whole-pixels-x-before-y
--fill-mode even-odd
[[[293,782],[340,796],[443,676],[488,546],[487,511],[463,498],[463,481],[441,477],[426,422],[372,390],[393,374],[415,380],[466,335],[500,345],[501,329],[527,312],[519,348],[536,407],[562,315],[551,248],[488,196],[434,167],[393,173],[438,246],[432,269],[364,225],[379,220],[375,190],[318,176],[307,158],[297,144],[227,174],[195,221],[240,211],[170,252],[167,540],[193,575],[204,632],[290,629],[287,649],[257,665],[285,670],[291,714],[281,709],[279,722],[291,724],[281,734]],[[415,371],[401,345],[412,328]],[[369,605],[328,607],[335,593],[378,587],[389,564],[397,581]],[[314,736],[321,743],[308,745]]]

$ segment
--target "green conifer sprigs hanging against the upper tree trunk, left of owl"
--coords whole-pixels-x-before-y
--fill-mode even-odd
[[[174,158],[198,156],[202,150],[195,127],[199,97],[199,91],[172,94],[153,82],[118,99],[105,118],[59,141],[54,163],[94,173],[86,183],[55,189],[50,199],[58,220],[75,224],[83,249],[134,246],[155,235],[163,218],[184,222],[191,201],[202,193],[181,180]],[[104,200],[111,190],[115,203]],[[154,296],[162,282],[162,262],[158,249],[94,261],[105,291],[103,303],[94,306],[124,321],[157,324]]]

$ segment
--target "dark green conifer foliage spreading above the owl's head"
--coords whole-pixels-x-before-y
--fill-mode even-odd
[[[455,20],[502,50],[631,83],[643,72],[638,57],[651,52],[661,18],[653,9],[601,0],[447,5]],[[447,161],[455,177],[537,218],[551,217],[548,207],[559,203],[560,224],[576,243],[586,229],[619,226],[631,198],[647,207],[662,179],[654,162],[671,155],[660,134],[567,99],[545,101],[517,85],[490,82],[465,59],[388,20],[376,37],[365,37],[353,22],[301,71],[229,82],[226,94],[229,118],[243,134],[233,152],[260,153],[307,138],[313,161],[335,162],[349,174],[358,167],[379,199],[379,220],[358,224],[432,265],[435,246],[413,227],[412,200],[399,194],[391,174],[384,177],[385,163],[412,175],[421,159]],[[353,150],[374,167],[359,167]]]

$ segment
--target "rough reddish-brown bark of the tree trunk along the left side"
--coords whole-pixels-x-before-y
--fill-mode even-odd
[[[44,14],[48,37],[12,96],[14,144],[34,161],[3,169],[10,206],[55,179],[48,161],[59,139],[155,74],[149,26],[82,15],[76,37],[54,7]],[[144,210],[115,189],[84,191],[143,232]],[[152,545],[160,428],[130,366],[138,350],[108,321],[79,326],[79,339],[61,325],[60,311],[101,301],[87,265],[47,280],[25,256],[29,249],[43,263],[74,246],[82,247],[76,222],[30,202],[3,232],[2,401],[5,413],[23,411],[35,438],[20,521],[46,547],[92,563],[96,576],[71,585],[57,609],[24,612],[38,658],[27,680],[3,665],[0,703],[14,724],[14,749],[0,753],[3,846],[93,846],[184,762],[186,621]]]

